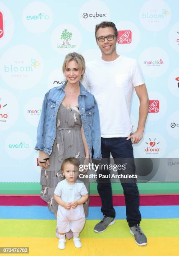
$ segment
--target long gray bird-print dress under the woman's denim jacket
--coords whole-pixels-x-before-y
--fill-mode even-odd
[[[69,157],[84,161],[84,145],[81,134],[82,120],[79,107],[66,108],[60,104],[56,116],[56,138],[49,156],[50,166],[41,169],[41,199],[48,203],[51,212],[57,213],[58,204],[54,200],[54,190],[63,178],[61,164]],[[78,178],[79,179],[79,178]],[[85,183],[89,191],[89,184]],[[88,215],[88,201],[84,204],[85,215]]]

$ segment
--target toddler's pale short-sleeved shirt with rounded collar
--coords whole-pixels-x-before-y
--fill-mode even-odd
[[[79,200],[82,195],[87,195],[88,192],[82,181],[77,179],[73,185],[70,185],[64,179],[57,184],[54,194],[61,196],[64,202],[74,202]]]

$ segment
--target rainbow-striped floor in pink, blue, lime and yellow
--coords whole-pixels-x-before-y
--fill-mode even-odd
[[[0,247],[29,247],[29,255],[179,256],[179,195],[141,196],[141,228],[147,246],[138,246],[125,220],[124,197],[114,196],[115,224],[104,233],[93,231],[102,218],[100,198],[90,196],[89,216],[80,234],[82,248],[66,239],[57,248],[56,218],[39,196],[0,196]],[[21,255],[21,254],[19,254]]]

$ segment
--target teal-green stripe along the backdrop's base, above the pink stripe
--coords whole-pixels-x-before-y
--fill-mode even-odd
[[[123,194],[121,184],[112,184],[113,194]],[[179,193],[179,183],[139,183],[140,194],[175,194]],[[39,182],[0,182],[0,194],[39,195]],[[97,184],[90,184],[90,194],[98,195]]]

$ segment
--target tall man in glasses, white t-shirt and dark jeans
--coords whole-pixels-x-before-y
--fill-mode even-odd
[[[84,86],[95,96],[100,113],[102,159],[133,159],[133,143],[143,138],[148,114],[148,94],[138,62],[116,53],[118,30],[113,22],[104,21],[96,25],[95,37],[102,57],[87,63]],[[130,121],[130,102],[135,89],[139,101],[137,131],[133,132]],[[135,165],[132,168],[135,174]],[[101,170],[102,172],[102,170]],[[107,172],[105,172],[107,174]],[[95,225],[94,231],[101,233],[115,221],[110,179],[97,179],[97,190],[102,200],[104,218]],[[126,215],[130,233],[138,245],[147,244],[140,228],[139,192],[136,182],[122,183],[125,195]]]

